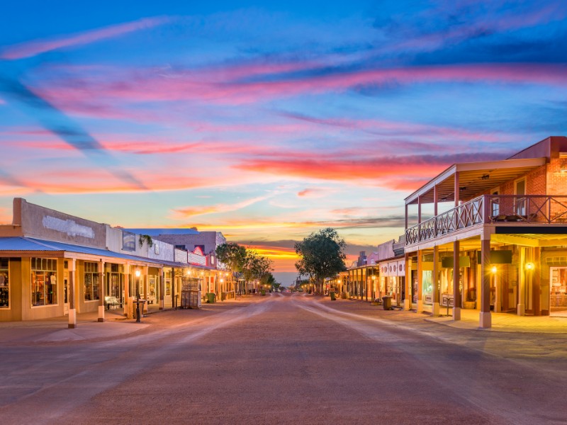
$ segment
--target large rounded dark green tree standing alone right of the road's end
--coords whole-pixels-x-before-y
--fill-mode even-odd
[[[322,293],[325,278],[332,278],[347,269],[344,266],[344,259],[347,258],[344,254],[346,246],[344,239],[331,227],[310,234],[303,242],[296,242],[294,246],[296,254],[301,256],[296,262],[298,273],[309,276],[318,292]]]

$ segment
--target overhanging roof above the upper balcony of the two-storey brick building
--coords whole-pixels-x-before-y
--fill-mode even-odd
[[[420,198],[420,203],[434,203],[435,186],[437,186],[437,202],[454,201],[455,174],[457,173],[459,174],[459,199],[466,200],[516,179],[545,163],[546,158],[529,158],[453,164],[405,198],[405,204],[415,204],[417,198]]]

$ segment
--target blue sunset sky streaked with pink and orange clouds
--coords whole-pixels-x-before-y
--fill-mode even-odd
[[[223,232],[296,276],[403,234],[456,162],[567,135],[566,1],[12,1],[0,26],[0,222],[12,199]]]

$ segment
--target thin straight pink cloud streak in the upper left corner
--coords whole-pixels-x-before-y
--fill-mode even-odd
[[[71,47],[76,45],[89,44],[106,38],[113,38],[119,35],[132,33],[133,31],[152,28],[170,22],[172,19],[168,17],[143,18],[138,21],[129,23],[121,23],[114,26],[107,26],[98,30],[86,31],[75,35],[69,35],[64,38],[52,40],[35,40],[23,42],[18,45],[4,47],[0,55],[1,59],[16,60],[26,57],[33,57],[40,53],[50,52],[62,47]]]

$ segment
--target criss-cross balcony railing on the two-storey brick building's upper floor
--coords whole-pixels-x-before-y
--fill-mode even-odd
[[[493,222],[567,224],[567,196],[483,195],[405,229],[412,245]]]

